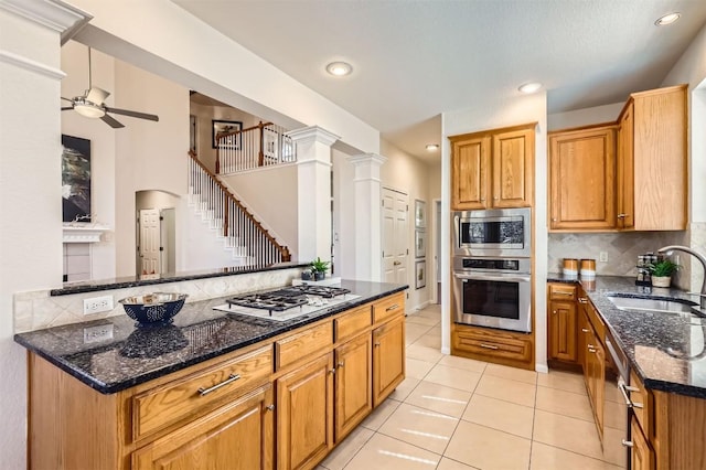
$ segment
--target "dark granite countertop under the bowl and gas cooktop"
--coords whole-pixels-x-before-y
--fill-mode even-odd
[[[186,303],[169,325],[139,328],[126,314],[19,333],[14,341],[111,394],[408,288],[353,280],[341,287],[361,297],[284,322],[214,310],[222,297]],[[105,331],[111,332],[109,340],[94,340]]]

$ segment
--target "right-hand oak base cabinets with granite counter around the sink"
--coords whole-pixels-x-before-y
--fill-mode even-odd
[[[627,357],[629,370],[620,371],[618,389],[630,408],[630,432],[623,440],[630,448],[630,468],[706,468],[706,318],[698,312],[625,310],[611,301],[620,297],[696,303],[698,298],[676,289],[635,286],[633,278],[624,277],[576,280],[556,275],[548,280],[550,298],[561,282],[580,285],[575,310],[579,318],[574,322],[578,363],[584,367],[599,434],[603,394],[611,393],[605,381],[610,368],[620,370],[607,354],[612,344]],[[550,309],[549,316],[563,313]]]

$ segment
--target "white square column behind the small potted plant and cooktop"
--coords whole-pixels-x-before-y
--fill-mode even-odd
[[[331,259],[331,146],[339,136],[318,126],[289,131],[297,146],[297,260]]]

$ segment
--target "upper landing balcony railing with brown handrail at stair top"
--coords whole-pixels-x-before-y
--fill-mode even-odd
[[[216,174],[236,173],[297,161],[297,149],[287,130],[272,122],[216,136]]]

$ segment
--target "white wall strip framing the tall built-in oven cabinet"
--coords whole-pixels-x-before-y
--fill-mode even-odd
[[[449,111],[442,115],[441,132],[441,188],[442,220],[441,236],[450,239],[450,164],[451,147],[449,136],[474,132],[486,129],[538,122],[535,136],[535,265],[534,314],[535,314],[535,361],[537,371],[546,372],[546,275],[547,275],[547,107],[546,94],[530,96],[512,94],[510,96],[479,96],[473,108]],[[441,348],[448,352],[450,346],[450,244],[442,244],[441,250]]]

